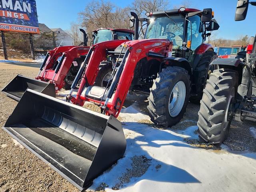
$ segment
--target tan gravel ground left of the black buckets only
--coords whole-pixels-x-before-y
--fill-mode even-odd
[[[0,63],[0,89],[17,74],[34,77],[37,73],[38,68]],[[2,92],[0,97],[0,192],[78,192],[2,129],[17,102]]]

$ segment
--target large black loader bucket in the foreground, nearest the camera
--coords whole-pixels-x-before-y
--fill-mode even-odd
[[[30,89],[4,130],[80,190],[126,150],[121,123],[113,116]]]

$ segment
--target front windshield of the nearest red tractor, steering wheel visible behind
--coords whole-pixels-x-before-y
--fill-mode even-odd
[[[171,18],[171,19],[170,19]],[[168,39],[174,45],[182,46],[184,32],[184,16],[167,16],[150,18],[145,38]]]

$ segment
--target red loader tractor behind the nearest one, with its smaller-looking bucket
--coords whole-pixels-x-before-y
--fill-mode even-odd
[[[20,100],[27,88],[50,96],[55,96],[55,92],[61,88],[69,90],[90,49],[87,46],[88,35],[83,29],[80,31],[84,34],[84,42],[80,46],[59,46],[50,50],[36,80],[18,75],[2,91],[11,98]],[[91,44],[115,39],[133,40],[133,36],[132,30],[102,28],[93,31]]]

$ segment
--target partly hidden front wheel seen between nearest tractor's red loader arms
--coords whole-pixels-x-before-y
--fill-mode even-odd
[[[94,85],[99,87],[106,87],[108,85],[108,81],[111,77],[112,71],[113,69],[110,65],[99,66],[99,72],[94,82]],[[110,86],[110,84],[108,86]]]

